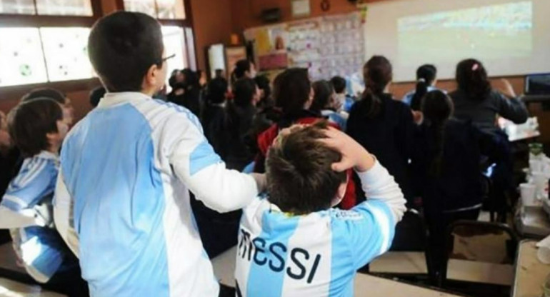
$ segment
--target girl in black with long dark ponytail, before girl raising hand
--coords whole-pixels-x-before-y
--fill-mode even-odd
[[[415,196],[422,198],[430,228],[432,263],[441,267],[447,226],[460,219],[476,220],[482,203],[479,160],[505,156],[491,134],[469,121],[454,119],[451,98],[431,91],[421,100],[424,121],[416,131],[411,162]]]

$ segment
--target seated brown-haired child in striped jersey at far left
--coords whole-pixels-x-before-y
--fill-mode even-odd
[[[25,160],[0,204],[0,228],[10,228],[16,254],[34,280],[75,296],[87,294],[86,283],[51,212],[58,151],[68,130],[61,106],[51,99],[24,101],[10,112],[9,132]]]

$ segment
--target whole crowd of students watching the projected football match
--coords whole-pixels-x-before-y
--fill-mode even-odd
[[[384,56],[364,65],[359,97],[338,76],[287,69],[271,83],[243,60],[230,81],[174,71],[154,99],[164,54],[156,20],[105,16],[89,37],[104,86],[93,111],[74,125],[70,100],[40,89],[0,114],[0,228],[39,283],[69,296],[352,296],[406,208],[424,211],[437,254],[449,223],[479,216],[481,161],[504,191],[496,116],[528,116],[474,59],[449,94],[421,66],[402,101]],[[233,289],[209,256],[235,244]]]

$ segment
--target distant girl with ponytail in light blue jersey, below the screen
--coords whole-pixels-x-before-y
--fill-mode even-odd
[[[414,111],[420,110],[420,104],[427,92],[439,90],[436,88],[437,68],[431,64],[424,64],[416,69],[416,89],[403,97],[403,102]],[[440,90],[441,91],[441,90]]]

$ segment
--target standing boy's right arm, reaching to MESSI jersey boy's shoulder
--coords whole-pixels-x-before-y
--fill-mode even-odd
[[[225,163],[201,129],[176,114],[166,125],[164,134],[176,135],[169,145],[169,162],[176,176],[189,187],[196,198],[216,211],[233,211],[246,206],[259,193],[263,176],[248,175],[226,169]]]

